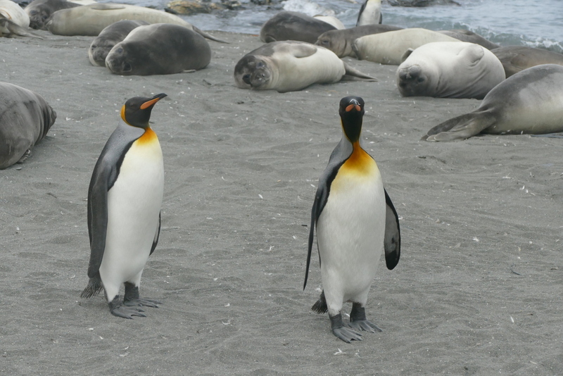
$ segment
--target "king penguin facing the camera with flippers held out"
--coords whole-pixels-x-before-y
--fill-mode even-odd
[[[361,331],[381,332],[367,320],[365,304],[381,253],[385,250],[389,270],[399,262],[400,230],[377,164],[360,145],[364,100],[346,96],[340,101],[339,113],[343,135],[315,194],[303,289],[316,225],[323,290],[311,309],[328,311],[333,334],[349,343],[361,340]],[[348,325],[342,321],[344,302],[352,303]]]

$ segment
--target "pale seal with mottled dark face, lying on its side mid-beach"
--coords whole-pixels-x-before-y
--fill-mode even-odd
[[[376,80],[351,68],[332,51],[307,42],[270,42],[249,52],[234,67],[241,89],[273,89],[280,93],[311,84],[332,84],[343,77]]]

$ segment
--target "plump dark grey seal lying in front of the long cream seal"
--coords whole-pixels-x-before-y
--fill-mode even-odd
[[[139,26],[115,44],[106,67],[116,75],[171,75],[205,68],[211,49],[201,35],[170,23]]]

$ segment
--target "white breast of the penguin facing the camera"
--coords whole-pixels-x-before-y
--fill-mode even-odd
[[[344,163],[317,221],[317,242],[325,289],[345,300],[369,289],[383,251],[386,203],[377,164]]]

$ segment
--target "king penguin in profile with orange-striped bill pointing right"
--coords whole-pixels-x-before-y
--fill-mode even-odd
[[[96,162],[88,189],[90,263],[80,296],[104,290],[110,312],[120,318],[145,316],[139,284],[160,234],[164,190],[163,152],[148,125],[153,106],[166,94],[136,96],[121,108],[121,120]],[[125,284],[125,296],[119,292]]]

